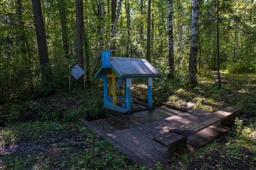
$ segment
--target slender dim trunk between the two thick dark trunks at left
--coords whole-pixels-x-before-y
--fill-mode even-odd
[[[65,11],[65,4],[63,0],[59,1],[58,8],[60,13],[60,26],[61,26],[61,33],[62,33],[62,39],[63,39],[64,55],[65,57],[69,57],[67,17],[66,17],[66,11]]]

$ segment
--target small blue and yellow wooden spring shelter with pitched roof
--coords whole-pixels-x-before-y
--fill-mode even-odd
[[[161,78],[161,73],[145,59],[110,57],[110,50],[102,52],[102,64],[94,75],[103,79],[104,106],[120,113],[131,113],[132,79],[146,78],[149,109],[152,109],[151,86],[153,78]],[[118,106],[118,101],[123,101]]]

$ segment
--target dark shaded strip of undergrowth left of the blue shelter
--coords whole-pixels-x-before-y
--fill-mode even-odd
[[[29,120],[76,122],[78,118],[94,120],[102,118],[102,89],[74,90],[69,94],[57,94],[37,100],[29,100],[0,106],[0,125]]]

